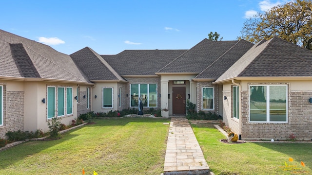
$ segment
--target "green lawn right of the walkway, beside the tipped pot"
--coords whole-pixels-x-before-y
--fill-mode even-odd
[[[227,144],[219,141],[226,137],[211,123],[192,127],[215,175],[312,175],[312,143]]]

